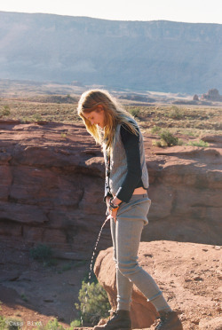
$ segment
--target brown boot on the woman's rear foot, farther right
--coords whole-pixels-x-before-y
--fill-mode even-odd
[[[155,330],[183,330],[176,311],[159,311],[159,313],[161,319]]]

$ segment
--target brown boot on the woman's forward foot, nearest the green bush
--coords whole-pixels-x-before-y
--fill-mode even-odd
[[[112,316],[106,325],[94,326],[93,330],[131,330],[131,317],[129,310],[112,310]]]

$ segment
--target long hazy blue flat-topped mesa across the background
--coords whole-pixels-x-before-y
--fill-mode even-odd
[[[222,90],[222,25],[0,12],[0,78]]]

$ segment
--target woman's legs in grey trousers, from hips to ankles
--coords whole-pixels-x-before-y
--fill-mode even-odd
[[[149,202],[144,201],[138,204],[131,203],[125,208],[124,212],[117,216],[115,224],[115,254],[117,258],[118,271],[126,279],[134,283],[139,290],[155,305],[156,310],[170,311],[170,306],[163,297],[162,291],[156,285],[155,280],[144,271],[138,263],[139,242],[141,232],[144,227],[144,215],[147,215]],[[126,300],[129,303],[130,290],[123,290],[123,284],[127,283],[123,277],[118,276],[118,308],[123,309]],[[129,286],[129,285],[128,285]],[[129,286],[130,287],[130,286]],[[127,294],[127,295],[126,295]]]

